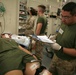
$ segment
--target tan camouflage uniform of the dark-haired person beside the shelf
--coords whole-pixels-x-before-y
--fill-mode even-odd
[[[36,16],[29,17],[29,19],[26,21],[25,25],[25,36],[33,35],[34,34],[34,22],[35,22]],[[32,39],[30,38],[30,45],[28,47],[29,51],[32,51]]]

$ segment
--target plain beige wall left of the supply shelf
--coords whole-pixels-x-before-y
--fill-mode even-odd
[[[4,4],[6,12],[0,17],[0,33],[17,33],[18,0],[0,0]]]

